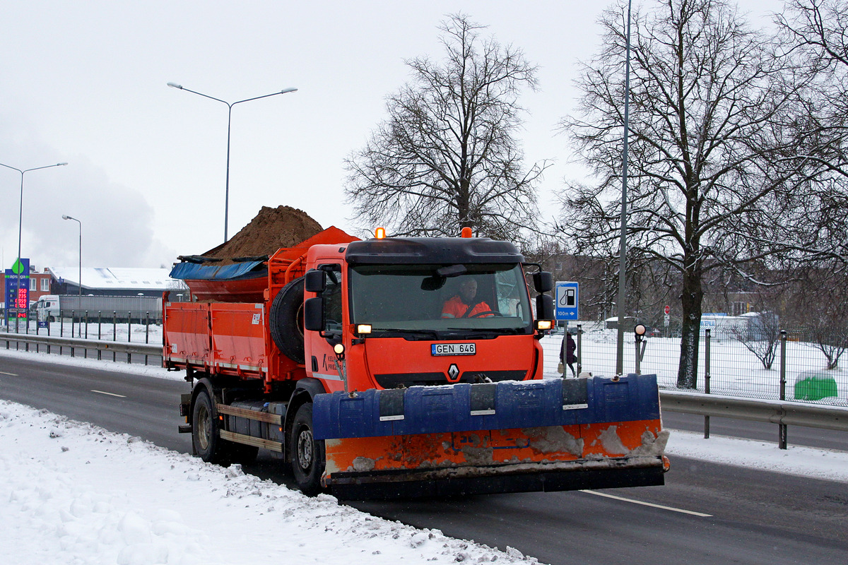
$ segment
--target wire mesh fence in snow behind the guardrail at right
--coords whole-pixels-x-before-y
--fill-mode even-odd
[[[577,342],[583,371],[594,375],[615,374],[616,330],[607,330],[598,323],[572,323],[569,330]],[[694,391],[848,406],[848,369],[842,368],[848,365],[848,354],[840,358],[836,368],[828,368],[839,352],[840,339],[844,338],[838,334],[817,336],[806,330],[774,333],[772,339],[755,340],[745,333],[703,331]],[[564,335],[557,333],[542,340],[545,376],[559,376],[557,366],[563,339]],[[625,373],[636,371],[636,357],[635,336],[633,331],[628,331],[624,343]],[[656,374],[664,389],[677,389],[679,359],[679,337],[649,337],[644,340],[640,372]],[[577,370],[577,364],[574,368]],[[571,376],[567,367],[566,376]]]

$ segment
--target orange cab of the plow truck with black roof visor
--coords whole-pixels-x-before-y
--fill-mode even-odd
[[[523,262],[515,246],[487,238],[314,246],[307,374],[328,392],[541,379]]]

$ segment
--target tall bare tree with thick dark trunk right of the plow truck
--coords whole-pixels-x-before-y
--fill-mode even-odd
[[[562,230],[599,254],[618,245],[625,10],[602,16],[604,47],[578,81],[582,115],[561,123],[598,179],[566,187]],[[799,87],[721,0],[657,0],[633,15],[632,53],[628,246],[678,273],[678,386],[694,388],[708,272],[752,278],[747,264],[804,252],[801,217],[785,212],[807,161],[778,121],[801,103]]]

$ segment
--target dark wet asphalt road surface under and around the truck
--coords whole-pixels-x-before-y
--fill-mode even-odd
[[[46,408],[176,451],[187,384],[108,370],[53,365],[46,355],[19,360],[0,352],[0,398]],[[669,428],[701,431],[702,417],[664,414]],[[711,433],[776,440],[776,426],[711,418]],[[789,428],[790,443],[846,449],[833,432]],[[281,462],[263,453],[245,468],[289,485]],[[546,563],[848,562],[844,483],[674,457],[667,484],[640,489],[522,493],[449,499],[355,502],[383,518]]]

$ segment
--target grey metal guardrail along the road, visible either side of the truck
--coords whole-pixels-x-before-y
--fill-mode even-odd
[[[47,347],[68,347],[73,350],[96,350],[102,352],[125,353],[129,362],[132,355],[158,356],[162,355],[162,346],[121,341],[83,340],[69,337],[51,337],[47,335],[25,335],[0,333],[0,344],[5,341],[6,349],[12,342]],[[73,353],[72,353],[73,354]],[[735,418],[778,424],[782,433],[778,443],[782,449],[785,445],[785,426],[804,426],[807,428],[832,429],[848,431],[848,408],[824,407],[802,402],[786,402],[760,400],[754,398],[739,398],[732,396],[707,395],[698,392],[660,391],[662,409],[667,412],[688,413],[704,416],[704,437],[709,437],[709,418]]]

